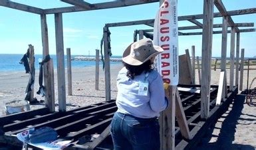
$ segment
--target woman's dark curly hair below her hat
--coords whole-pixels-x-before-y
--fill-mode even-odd
[[[150,60],[142,63],[141,65],[129,65],[128,63],[122,62],[124,67],[128,70],[126,76],[130,79],[134,79],[134,76],[140,75],[143,71],[150,72],[152,71],[152,62]]]

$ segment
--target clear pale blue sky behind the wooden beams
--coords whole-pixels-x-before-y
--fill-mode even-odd
[[[13,0],[17,3],[49,9],[68,7],[70,5],[59,0]],[[88,3],[102,3],[106,1],[86,0]],[[222,0],[227,11],[256,8],[256,0]],[[115,9],[101,9],[63,14],[64,54],[66,48],[71,48],[72,55],[95,55],[100,49],[102,29],[107,23],[126,22],[134,20],[154,19],[159,3],[120,7]],[[214,7],[214,13],[218,10]],[[178,16],[197,15],[203,13],[203,0],[178,0]],[[233,16],[235,23],[254,22],[256,14]],[[198,20],[202,22],[202,19]],[[221,24],[222,18],[215,18],[213,24]],[[49,52],[56,54],[55,47],[55,20],[54,15],[47,15],[49,30]],[[179,21],[178,26],[194,26],[188,21]],[[256,27],[247,28],[256,28]],[[242,28],[242,27],[240,27]],[[109,28],[113,56],[122,56],[128,45],[133,42],[134,30],[152,29],[146,25],[121,26]],[[230,29],[230,28],[229,28]],[[214,28],[213,30],[221,30]],[[201,30],[182,30],[182,32],[201,32]],[[230,34],[227,36],[227,57],[230,54]],[[201,35],[179,36],[179,54],[185,54],[195,46],[195,56],[201,56]],[[245,48],[245,57],[256,56],[256,32],[240,34],[240,49]],[[0,6],[0,54],[25,54],[28,44],[35,48],[35,54],[42,54],[41,20],[40,15],[9,9]],[[221,34],[213,34],[212,56],[221,56]]]

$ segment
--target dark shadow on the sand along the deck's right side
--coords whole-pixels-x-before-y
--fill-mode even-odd
[[[239,118],[242,114],[243,110],[243,104],[245,102],[245,95],[243,94],[237,94],[235,100],[233,100],[233,104],[229,105],[229,112],[227,112],[227,116],[221,116],[219,118],[218,122],[221,122],[223,120],[221,128],[215,128],[215,124],[212,124],[209,128],[208,131],[201,139],[201,142],[194,147],[193,149],[255,149],[255,147],[251,145],[242,145],[242,144],[233,144],[232,141],[235,139],[235,129],[236,129],[236,124],[237,120],[241,119]],[[214,129],[219,129],[219,135],[213,135],[213,130]],[[217,139],[213,143],[209,143],[211,138]]]

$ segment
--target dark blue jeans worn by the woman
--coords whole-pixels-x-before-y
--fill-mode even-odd
[[[116,112],[110,133],[115,150],[160,149],[159,123],[157,118],[136,118]]]

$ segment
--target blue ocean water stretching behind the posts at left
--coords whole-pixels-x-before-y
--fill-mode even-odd
[[[25,71],[23,64],[20,64],[20,60],[24,54],[0,54],[0,72],[6,71]],[[56,55],[50,55],[53,59],[54,69],[57,69],[57,58]],[[71,58],[76,57],[72,55]],[[114,56],[120,57],[120,56]],[[39,69],[39,58],[43,58],[42,55],[35,55],[35,69]],[[64,66],[66,68],[66,56],[64,56]],[[110,64],[120,63],[120,62],[110,62]],[[71,61],[72,67],[90,67],[94,66],[95,61]],[[102,61],[100,61],[100,66],[102,67]]]

